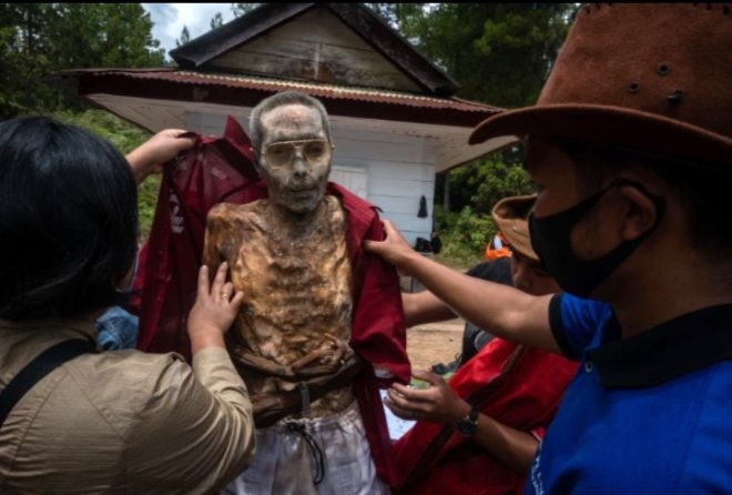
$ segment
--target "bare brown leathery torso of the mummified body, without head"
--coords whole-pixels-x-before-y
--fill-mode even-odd
[[[338,201],[325,196],[317,219],[305,225],[270,212],[270,200],[216,205],[204,249],[204,263],[226,261],[234,289],[244,293],[228,339],[235,363],[255,364],[240,367],[254,400],[293,391],[353,354],[350,264]],[[340,387],[314,401],[309,416],[340,412],[353,401],[350,387]]]

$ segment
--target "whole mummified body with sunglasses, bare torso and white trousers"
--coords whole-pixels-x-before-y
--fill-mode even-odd
[[[368,315],[354,326],[364,265],[350,265],[357,222],[349,215],[360,211],[338,188],[326,194],[334,144],[325,107],[305,93],[276,93],[252,109],[250,132],[266,198],[213,208],[204,245],[204,262],[226,261],[244,295],[227,345],[256,424],[255,462],[224,493],[386,494],[377,469],[387,472],[388,438],[370,388],[383,357],[362,345],[367,362],[349,343],[390,326],[366,330]],[[388,342],[384,347],[388,362]]]

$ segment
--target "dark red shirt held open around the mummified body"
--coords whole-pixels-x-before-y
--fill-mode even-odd
[[[195,301],[206,214],[220,202],[241,204],[267,196],[250,145],[244,130],[228,118],[223,138],[200,137],[175,164],[165,166],[135,277],[140,299],[131,306],[140,316],[140,350],[174,351],[191,360],[185,322]],[[384,239],[376,206],[332,182],[326,193],[340,200],[348,222],[346,244],[354,277],[349,344],[373,367],[393,374],[379,378],[372,368],[354,382],[377,472],[393,485],[393,448],[378,390],[410,378],[399,279],[394,266],[362,245],[366,239]]]

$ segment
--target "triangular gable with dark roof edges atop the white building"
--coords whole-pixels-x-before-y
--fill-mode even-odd
[[[363,3],[262,3],[170,55],[184,70],[295,83],[437,98],[450,98],[459,88]]]

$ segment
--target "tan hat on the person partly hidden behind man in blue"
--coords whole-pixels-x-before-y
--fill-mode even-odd
[[[538,262],[539,256],[531,249],[529,222],[527,221],[536,200],[536,194],[504,198],[496,203],[490,214],[511,249],[518,251],[522,256]]]

